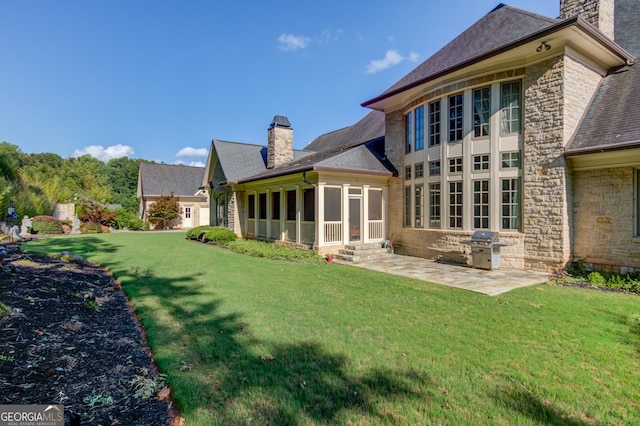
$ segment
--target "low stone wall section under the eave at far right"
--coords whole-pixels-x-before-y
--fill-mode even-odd
[[[574,260],[613,272],[640,271],[633,179],[632,167],[574,173]]]

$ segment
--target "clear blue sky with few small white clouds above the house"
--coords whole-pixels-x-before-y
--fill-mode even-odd
[[[212,139],[264,145],[285,115],[301,149],[498,4],[0,0],[0,141],[202,165]]]

